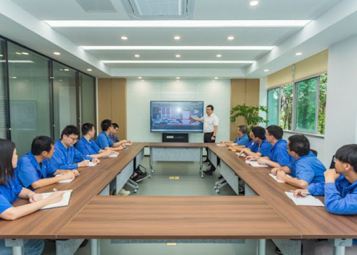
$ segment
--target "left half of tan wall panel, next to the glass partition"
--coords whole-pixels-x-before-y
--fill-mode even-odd
[[[111,79],[98,79],[98,133],[100,122],[112,117],[112,83]]]

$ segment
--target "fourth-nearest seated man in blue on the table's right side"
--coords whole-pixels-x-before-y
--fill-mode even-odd
[[[251,128],[252,141],[254,142],[249,148],[243,148],[241,153],[247,155],[247,160],[257,160],[259,157],[268,156],[271,150],[271,144],[265,138],[265,129],[261,126]]]

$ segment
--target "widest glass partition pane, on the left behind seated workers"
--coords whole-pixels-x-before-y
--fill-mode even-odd
[[[17,154],[36,136],[51,136],[49,60],[8,42],[11,140]]]

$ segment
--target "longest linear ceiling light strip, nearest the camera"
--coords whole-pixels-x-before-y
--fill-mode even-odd
[[[43,20],[53,28],[266,28],[304,27],[308,19],[241,20]]]

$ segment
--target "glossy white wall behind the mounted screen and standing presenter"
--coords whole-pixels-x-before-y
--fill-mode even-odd
[[[162,133],[150,133],[150,100],[203,101],[213,105],[219,118],[217,141],[229,140],[231,80],[145,80],[128,79],[127,138],[133,141],[161,142]],[[190,133],[189,142],[203,142],[202,133]]]

